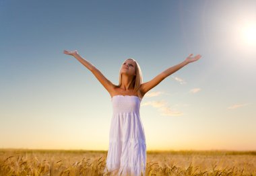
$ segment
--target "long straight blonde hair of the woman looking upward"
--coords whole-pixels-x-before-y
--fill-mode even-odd
[[[135,74],[136,74],[135,77],[133,77],[133,81],[131,81],[131,85],[129,85],[128,89],[135,90],[135,92],[137,93],[137,95],[139,95],[139,98],[141,99],[142,95],[141,95],[141,92],[140,92],[140,85],[143,81],[141,69],[140,69],[139,64],[137,63],[137,61],[135,59],[127,58],[127,60],[128,59],[131,59],[135,62]],[[121,69],[122,69],[122,67],[123,67],[123,64],[121,66]],[[121,84],[122,84],[121,69],[119,70],[119,85],[118,85],[118,87],[121,87]]]

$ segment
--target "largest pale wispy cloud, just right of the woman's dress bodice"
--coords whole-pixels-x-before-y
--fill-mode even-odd
[[[152,107],[156,107],[158,109],[158,112],[160,112],[160,116],[182,116],[183,113],[179,111],[174,111],[168,107],[166,101],[147,101],[145,103],[142,103],[143,105],[151,105]]]

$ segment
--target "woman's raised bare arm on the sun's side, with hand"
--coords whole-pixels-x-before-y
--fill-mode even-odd
[[[152,79],[151,81],[142,83],[141,84],[142,94],[145,95],[148,91],[150,91],[150,89],[152,89],[153,87],[158,85],[162,80],[164,80],[169,75],[172,75],[172,73],[174,73],[174,72],[178,71],[179,69],[181,69],[182,67],[184,67],[186,64],[189,64],[190,62],[194,62],[194,61],[198,60],[199,58],[201,58],[201,55],[199,55],[199,54],[197,54],[197,56],[195,56],[195,57],[192,57],[192,55],[193,54],[189,54],[189,56],[183,62],[166,69],[165,71],[163,71],[162,73],[160,73],[159,75],[154,77],[154,79]]]

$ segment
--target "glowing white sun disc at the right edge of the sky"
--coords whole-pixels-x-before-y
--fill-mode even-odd
[[[246,44],[256,46],[256,24],[247,24],[241,32]]]

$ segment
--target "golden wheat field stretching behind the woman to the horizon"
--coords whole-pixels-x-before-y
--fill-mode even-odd
[[[111,175],[107,151],[0,149],[0,175]],[[256,175],[256,151],[147,151],[146,175]]]

